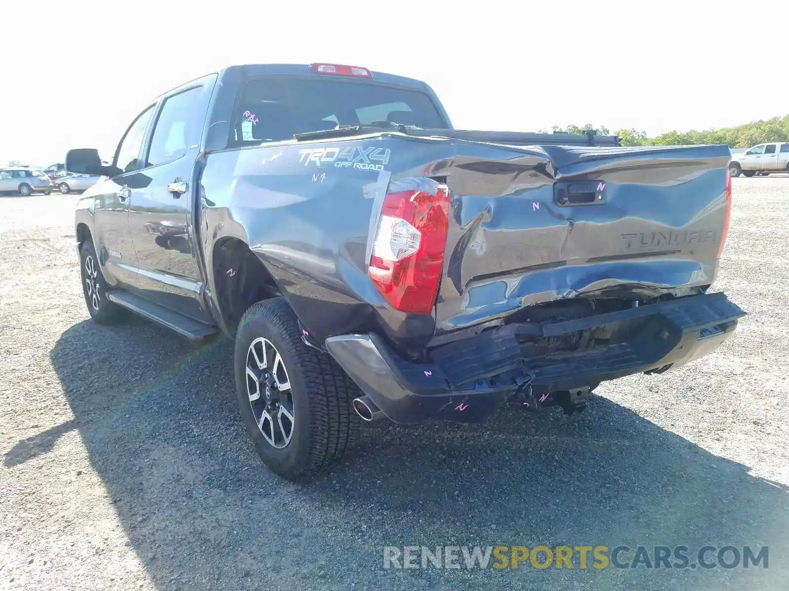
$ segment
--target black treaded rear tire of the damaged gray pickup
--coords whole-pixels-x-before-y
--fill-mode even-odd
[[[271,356],[273,351],[279,353],[282,362],[265,359],[263,368],[260,362],[255,367],[255,361],[260,358],[259,354],[255,355],[250,364],[260,374],[249,377],[247,366],[250,355],[254,355],[252,345],[265,347],[266,343],[271,349],[264,356]],[[361,396],[361,392],[331,356],[301,340],[296,315],[284,299],[258,302],[246,311],[236,333],[234,368],[241,418],[257,454],[271,471],[295,481],[325,472],[342,459],[361,423],[351,406],[351,401]],[[282,374],[282,368],[286,374]],[[283,376],[288,388],[281,388]],[[271,387],[265,387],[266,384]],[[273,406],[269,402],[270,394],[271,400],[279,396]],[[252,396],[258,397],[253,400]],[[279,413],[278,423],[273,422],[271,412],[278,412],[280,405],[292,409],[292,422],[289,418],[283,421]],[[262,418],[264,411],[268,412],[268,419]],[[285,433],[288,422],[290,437]],[[266,437],[263,429],[267,430]],[[282,447],[275,446],[278,443],[275,430],[282,435],[279,438]]]

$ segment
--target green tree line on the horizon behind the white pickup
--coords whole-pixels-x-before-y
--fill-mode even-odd
[[[556,125],[551,129],[554,133],[581,134],[590,129],[596,129],[601,136],[609,136],[611,132],[606,127],[595,127],[586,124],[583,127],[568,125],[560,128]],[[753,121],[737,127],[721,129],[708,129],[697,132],[667,132],[660,136],[649,137],[646,132],[638,129],[619,129],[613,133],[619,136],[623,146],[692,146],[701,143],[726,144],[728,147],[751,147],[757,143],[789,142],[789,115],[772,117],[767,121]]]

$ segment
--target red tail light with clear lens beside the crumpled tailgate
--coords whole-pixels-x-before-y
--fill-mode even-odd
[[[401,312],[429,314],[436,303],[449,228],[449,189],[409,190],[383,199],[368,277]]]

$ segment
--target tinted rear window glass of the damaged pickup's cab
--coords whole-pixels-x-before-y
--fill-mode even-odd
[[[266,76],[244,87],[230,143],[276,142],[336,125],[387,121],[421,128],[447,126],[436,105],[421,91],[323,77]]]

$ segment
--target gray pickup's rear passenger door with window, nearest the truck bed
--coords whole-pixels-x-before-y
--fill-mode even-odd
[[[150,182],[133,188],[129,205],[141,295],[199,320],[209,317],[201,306],[204,280],[191,229],[197,194],[192,173],[215,77],[174,91],[159,103],[140,171]]]

